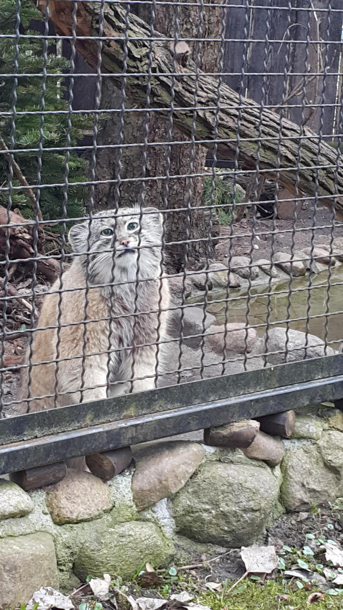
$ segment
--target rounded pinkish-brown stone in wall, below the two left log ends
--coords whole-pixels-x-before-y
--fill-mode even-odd
[[[54,523],[77,523],[97,519],[110,511],[107,484],[90,472],[68,469],[62,481],[46,488],[46,504]]]

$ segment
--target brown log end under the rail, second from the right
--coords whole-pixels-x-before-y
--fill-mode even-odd
[[[259,429],[260,423],[255,420],[228,423],[204,430],[203,441],[213,447],[249,447]]]

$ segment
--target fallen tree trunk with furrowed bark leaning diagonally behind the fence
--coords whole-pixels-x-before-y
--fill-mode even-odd
[[[73,6],[74,2],[69,0],[50,2],[50,17],[60,35],[72,36]],[[43,12],[44,7],[45,2],[41,0],[40,9]],[[126,92],[133,102],[145,107],[149,91],[150,107],[166,109],[160,115],[168,117],[174,84],[176,109],[173,121],[183,133],[191,134],[195,116],[195,138],[210,140],[204,145],[211,148],[217,123],[217,151],[227,159],[233,159],[239,123],[239,161],[242,169],[255,171],[258,154],[259,170],[263,171],[263,175],[275,178],[279,172],[278,182],[293,193],[297,182],[300,192],[319,197],[320,203],[332,208],[336,191],[339,196],[334,207],[337,215],[343,218],[343,167],[339,165],[337,152],[324,142],[320,143],[318,155],[318,135],[306,127],[300,129],[291,121],[281,120],[277,113],[269,109],[261,110],[250,99],[240,102],[238,94],[225,84],[221,84],[220,110],[217,114],[217,78],[202,73],[196,76],[195,65],[188,59],[186,67],[182,65],[184,61],[177,64],[177,74],[173,79],[170,73],[174,68],[174,44],[163,40],[151,42],[150,27],[133,13],[126,20],[124,5],[111,3],[101,8],[99,2],[77,2],[77,36],[99,36],[101,10],[104,12],[102,36],[107,37],[102,40],[101,70],[121,74],[125,69],[129,75]],[[161,35],[154,32],[154,37]],[[76,40],[77,51],[93,67],[97,66],[98,45],[97,40]],[[121,79],[117,77],[115,80],[120,86]],[[193,108],[194,91],[197,91],[196,112]],[[178,107],[182,110],[178,110]],[[260,148],[258,138],[261,138]],[[297,163],[300,166],[298,169]]]

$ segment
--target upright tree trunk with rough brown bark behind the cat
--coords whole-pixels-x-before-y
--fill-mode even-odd
[[[200,6],[200,5],[199,5]],[[203,8],[202,23],[199,28],[199,7],[194,4],[175,8],[173,4],[157,4],[154,7],[154,18],[152,16],[152,5],[137,4],[132,7],[146,23],[152,24],[154,30],[161,32],[166,37],[172,37],[175,30],[175,15],[179,10],[178,36],[180,38],[196,39],[218,38],[221,30],[222,9],[218,7]],[[189,44],[189,46],[188,46]],[[203,71],[215,72],[218,61],[218,43],[207,43],[199,41],[184,41],[179,43],[179,61],[185,62],[192,57],[194,62],[196,56],[200,63],[199,68]],[[120,109],[122,102],[121,92],[116,87],[113,79],[105,78],[102,81],[101,107],[104,109]],[[154,105],[153,105],[154,106]],[[96,203],[100,203],[102,209],[113,207],[116,201],[116,184],[106,182],[118,176],[119,160],[121,167],[121,179],[129,179],[129,182],[121,182],[120,205],[132,206],[133,202],[154,204],[159,209],[171,210],[164,215],[165,240],[173,245],[166,248],[166,261],[171,270],[179,271],[183,267],[185,256],[186,229],[188,228],[188,240],[197,239],[207,234],[206,216],[200,209],[203,200],[203,176],[198,175],[187,178],[187,174],[203,174],[205,172],[206,149],[200,145],[194,145],[191,151],[189,137],[180,133],[172,127],[169,121],[161,120],[160,113],[135,112],[130,100],[126,100],[126,109],[132,112],[122,113],[124,123],[122,141],[125,145],[144,143],[144,131],[147,134],[149,146],[144,150],[141,146],[125,145],[122,149],[114,149],[108,154],[108,148],[103,148],[97,157],[97,178],[104,181],[96,190]],[[110,115],[104,120],[99,131],[97,141],[99,145],[116,144],[120,140],[120,120],[118,113]],[[163,146],[151,144],[164,142]],[[168,142],[181,142],[179,145],[169,146]],[[143,151],[145,159],[143,157]],[[168,159],[169,157],[169,159]],[[168,173],[171,178],[168,183],[164,179],[167,175],[166,168],[169,163]],[[142,167],[145,166],[146,182],[139,180],[142,176]],[[158,178],[161,176],[161,178]],[[180,176],[180,178],[172,178]],[[118,195],[117,195],[118,199]],[[189,212],[172,212],[189,203]],[[189,218],[187,218],[189,215]],[[187,244],[187,258],[189,262],[199,259],[205,254],[213,253],[213,244],[209,242],[190,242]]]

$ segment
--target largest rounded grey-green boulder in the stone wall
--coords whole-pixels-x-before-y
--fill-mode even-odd
[[[174,519],[184,536],[240,547],[264,531],[278,498],[269,468],[208,462],[174,497]]]

